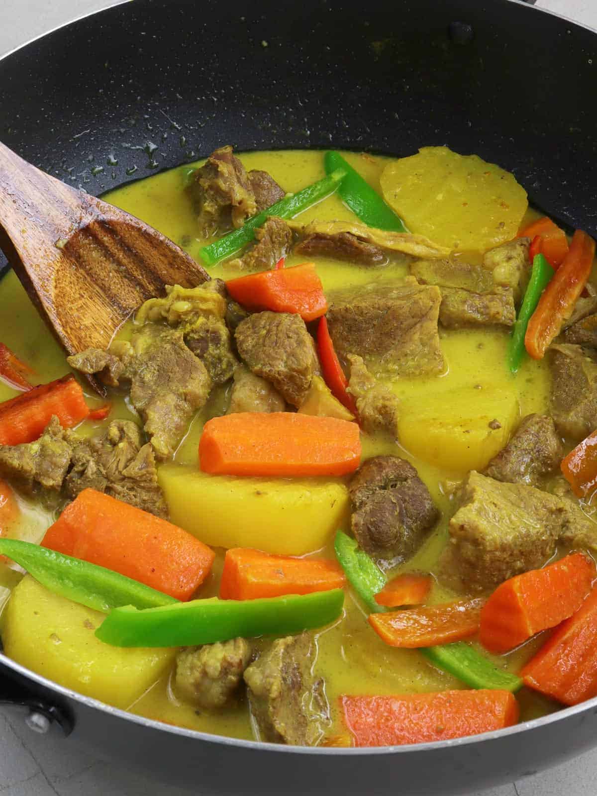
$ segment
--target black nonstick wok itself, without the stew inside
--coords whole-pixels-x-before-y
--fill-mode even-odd
[[[0,60],[0,139],[91,193],[209,154],[447,144],[597,235],[597,35],[510,0],[137,0]],[[2,271],[2,266],[0,266]],[[1,310],[0,310],[1,311]],[[221,794],[456,794],[595,745],[597,699],[476,739],[293,749],[130,716],[0,654],[0,703]]]

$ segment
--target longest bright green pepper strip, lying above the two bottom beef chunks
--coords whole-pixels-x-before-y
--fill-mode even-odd
[[[344,591],[314,591],[262,599],[196,599],[137,611],[115,608],[96,630],[112,646],[194,646],[244,636],[286,636],[334,622]]]

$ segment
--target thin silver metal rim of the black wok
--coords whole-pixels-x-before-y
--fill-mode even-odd
[[[529,3],[525,2],[525,0],[501,0],[501,2],[508,2],[517,6],[529,7]],[[57,30],[68,28],[71,25],[76,25],[77,22],[95,15],[110,14],[111,11],[114,10],[115,8],[127,4],[128,0],[114,0],[114,2],[112,2],[110,6],[106,6],[103,9],[88,11],[85,14],[80,14],[77,17],[74,17],[63,23],[60,23],[59,25],[55,25],[53,28],[46,30],[44,33],[40,33],[37,36],[33,36],[27,41],[21,43],[20,45],[17,45],[13,49],[8,50],[6,53],[2,53],[0,55],[0,62],[6,60],[6,58],[13,56],[15,53],[20,53],[21,50],[26,49],[27,47],[29,47],[29,45],[33,45],[36,41],[39,41],[51,35],[52,33],[55,33]],[[587,25],[583,21],[572,20],[571,18],[565,16],[564,14],[558,14],[556,11],[545,9],[541,6],[532,6],[532,7],[535,11],[538,11],[542,14],[549,14],[552,17],[559,18],[569,25],[574,25],[578,28],[585,29],[597,36],[597,28],[593,28],[591,25]],[[308,149],[308,147],[305,148]],[[174,166],[174,168],[176,168],[176,166]],[[160,170],[160,172],[158,173],[161,172],[162,170]],[[148,176],[154,176],[154,175],[148,175]],[[115,185],[114,188],[112,188],[111,190],[118,187],[119,187],[118,185]],[[6,275],[8,271],[10,271],[10,265],[0,270],[0,280],[2,280],[2,278]],[[84,694],[81,694],[77,691],[68,689],[63,685],[60,685],[53,680],[49,680],[47,677],[43,677],[43,675],[38,674],[37,672],[34,672],[32,669],[28,669],[27,667],[19,664],[17,661],[12,660],[12,658],[4,654],[2,652],[2,649],[0,648],[0,677],[6,677],[6,674],[2,671],[3,668],[12,669],[14,673],[17,673],[21,677],[25,678],[25,680],[33,681],[37,683],[37,685],[40,685],[42,688],[47,689],[52,693],[57,693],[68,700],[72,700],[79,704],[82,704],[87,708],[99,710],[104,714],[106,714],[107,716],[112,716],[115,717],[116,719],[124,721],[131,721],[134,724],[139,724],[139,726],[150,728],[157,732],[168,732],[170,733],[170,735],[182,736],[193,740],[201,739],[202,741],[208,743],[217,743],[228,747],[240,747],[242,749],[248,749],[248,750],[256,749],[257,751],[273,751],[279,755],[316,755],[318,757],[340,755],[341,757],[345,756],[361,757],[369,755],[397,755],[397,754],[408,754],[408,753],[412,754],[413,752],[419,752],[420,754],[423,754],[426,751],[431,752],[437,750],[455,749],[455,747],[468,747],[476,743],[484,743],[484,742],[490,743],[490,741],[493,741],[495,739],[501,739],[507,736],[515,736],[523,732],[531,732],[535,728],[546,727],[549,724],[556,724],[557,722],[572,718],[572,716],[581,715],[584,712],[591,711],[591,709],[593,708],[597,708],[597,696],[594,696],[590,700],[584,700],[579,704],[565,708],[560,708],[560,710],[556,710],[552,713],[549,713],[547,716],[541,716],[538,719],[518,722],[517,724],[513,724],[512,726],[507,728],[501,728],[499,730],[493,730],[491,732],[482,732],[477,735],[464,736],[462,738],[430,741],[426,743],[405,743],[395,746],[380,746],[380,747],[304,747],[304,746],[291,746],[280,743],[270,743],[267,741],[233,738],[230,736],[220,736],[215,733],[202,732],[201,730],[192,730],[184,727],[176,727],[172,724],[167,724],[162,721],[158,721],[155,719],[148,719],[145,716],[139,716],[135,713],[131,713],[122,708],[115,708],[113,705],[97,700],[92,696],[85,696]]]

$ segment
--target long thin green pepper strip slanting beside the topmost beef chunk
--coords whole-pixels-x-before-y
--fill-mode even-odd
[[[215,265],[220,262],[220,259],[232,256],[234,252],[237,252],[253,240],[256,228],[265,224],[268,217],[292,218],[298,213],[302,213],[303,210],[310,208],[311,205],[315,205],[318,201],[330,196],[330,193],[334,193],[345,174],[345,170],[337,169],[328,177],[314,182],[313,185],[307,185],[302,191],[291,193],[280,199],[275,205],[271,205],[266,210],[262,210],[261,213],[257,213],[256,216],[249,218],[239,229],[228,232],[228,235],[224,235],[220,240],[216,240],[215,243],[201,248],[199,250],[201,259],[203,259],[205,265]]]

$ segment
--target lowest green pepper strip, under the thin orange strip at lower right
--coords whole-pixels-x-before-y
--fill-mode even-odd
[[[489,658],[478,654],[465,642],[422,647],[419,652],[438,669],[453,674],[471,688],[503,689],[513,693],[522,688],[521,677],[497,669]]]

